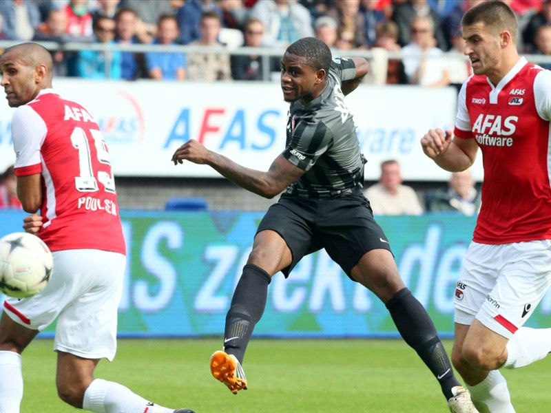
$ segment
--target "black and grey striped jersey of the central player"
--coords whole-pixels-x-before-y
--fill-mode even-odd
[[[334,59],[322,94],[306,105],[300,100],[291,103],[282,155],[306,173],[286,193],[331,198],[363,186],[365,160],[340,88],[355,73],[351,59]]]

